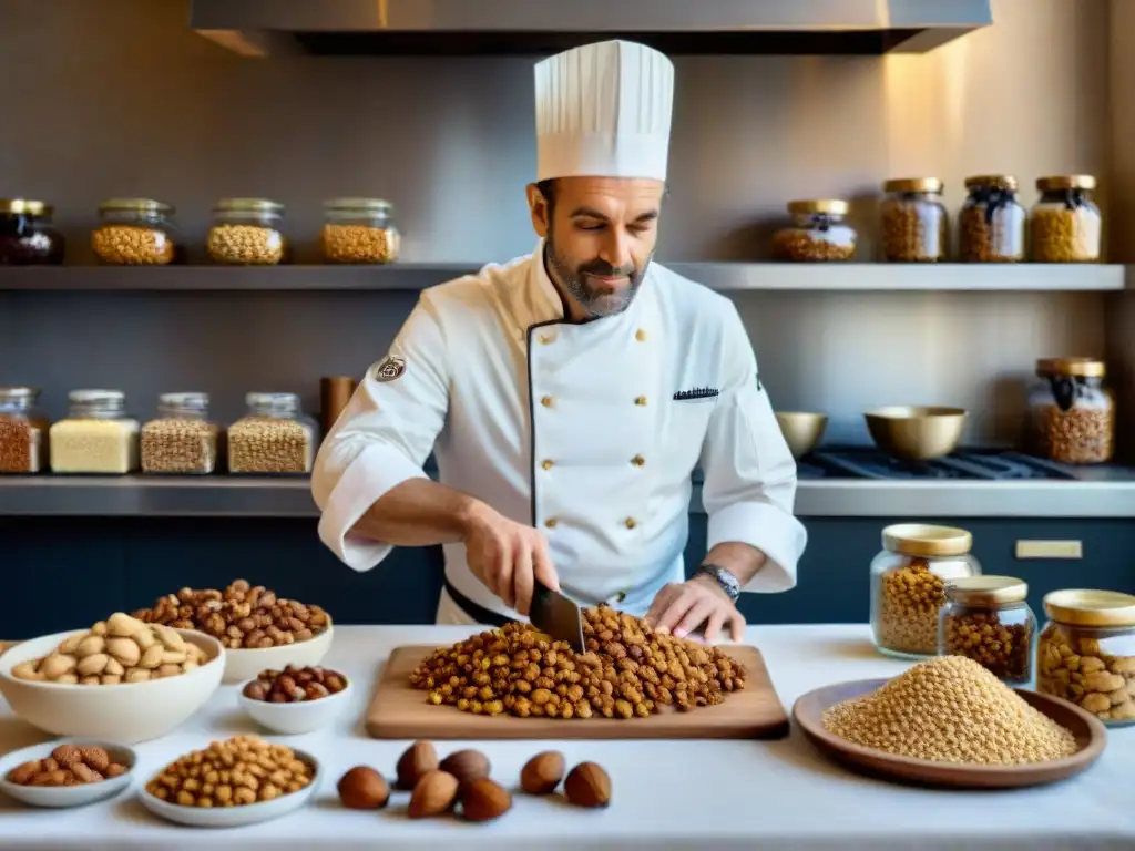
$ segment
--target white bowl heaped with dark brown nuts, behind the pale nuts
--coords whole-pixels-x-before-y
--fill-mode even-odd
[[[331,648],[331,618],[322,608],[283,599],[243,579],[224,591],[183,588],[134,616],[220,641],[228,684],[252,680],[267,668],[318,665]]]

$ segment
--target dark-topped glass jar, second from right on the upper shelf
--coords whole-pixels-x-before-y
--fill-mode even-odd
[[[966,178],[969,197],[958,216],[959,259],[968,263],[1017,263],[1025,259],[1028,214],[1017,201],[1012,175]]]

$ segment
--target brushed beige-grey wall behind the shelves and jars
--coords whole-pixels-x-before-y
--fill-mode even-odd
[[[659,260],[765,259],[784,202],[816,196],[855,202],[871,258],[874,202],[896,176],[939,176],[957,207],[968,174],[1014,172],[1032,203],[1039,175],[1090,171],[1110,209],[1109,3],[994,0],[993,12],[993,27],[927,56],[678,58]],[[184,0],[0,3],[0,195],[53,201],[75,262],[90,262],[99,201],[123,195],[176,204],[196,246],[216,199],[262,195],[288,205],[310,260],[321,201],[373,194],[397,205],[406,261],[531,248],[533,59],[251,60],[186,22]],[[1033,361],[1104,345],[1095,294],[735,301],[776,405],[830,412],[836,440],[865,441],[860,412],[891,403],[964,405],[969,439],[1011,439]],[[0,294],[0,381],[44,386],[53,413],[83,385],[123,387],[143,414],[188,386],[212,389],[222,416],[253,387],[313,403],[319,376],[381,356],[409,303]],[[89,357],[59,343],[111,338]]]

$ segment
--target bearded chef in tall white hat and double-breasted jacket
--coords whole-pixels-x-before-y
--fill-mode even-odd
[[[356,571],[443,545],[438,623],[522,620],[541,582],[738,640],[741,592],[796,584],[796,465],[737,309],[651,262],[673,84],[624,41],[536,66],[535,251],[423,290],[319,450],[322,541]]]

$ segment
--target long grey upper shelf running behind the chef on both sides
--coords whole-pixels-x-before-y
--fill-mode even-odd
[[[1094,263],[665,266],[720,292],[1107,292],[1124,289],[1128,272],[1124,266]],[[379,267],[0,267],[0,292],[413,292],[476,272],[480,267],[472,262]]]

